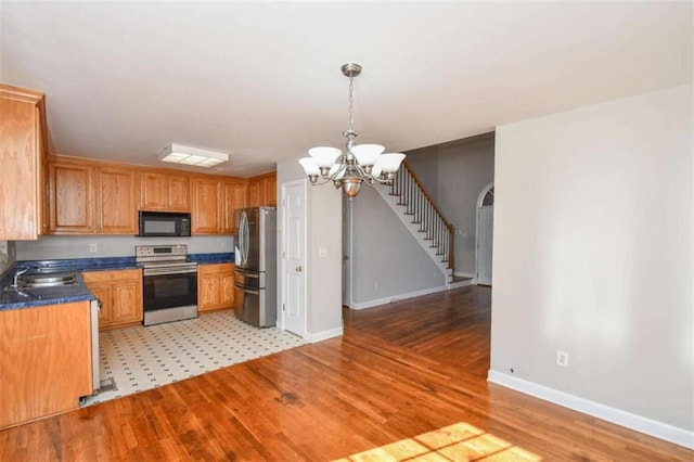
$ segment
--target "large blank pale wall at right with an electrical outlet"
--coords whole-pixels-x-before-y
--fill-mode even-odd
[[[492,372],[694,431],[692,98],[497,129]]]

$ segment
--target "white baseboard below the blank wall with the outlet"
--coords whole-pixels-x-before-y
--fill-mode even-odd
[[[670,424],[654,421],[648,418],[632,414],[620,409],[612,408],[589,399],[579,398],[565,392],[517,378],[502,372],[489,371],[487,380],[497,385],[535,396],[536,398],[621,425],[646,435],[664,439],[685,448],[694,449],[694,432]]]

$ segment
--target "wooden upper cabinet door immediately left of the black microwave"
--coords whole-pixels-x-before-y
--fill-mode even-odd
[[[99,231],[107,234],[134,234],[134,170],[100,167],[98,179]]]

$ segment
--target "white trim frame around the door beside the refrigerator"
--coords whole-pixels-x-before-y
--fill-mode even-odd
[[[285,271],[287,269],[286,267],[286,233],[284,232],[284,230],[286,229],[286,190],[287,188],[293,188],[293,187],[303,187],[303,192],[304,192],[304,255],[301,256],[301,259],[306,262],[307,261],[307,253],[308,253],[308,188],[307,188],[307,180],[303,179],[303,180],[293,180],[293,181],[285,181],[280,185],[280,206],[281,206],[281,210],[282,210],[282,215],[281,215],[281,231],[278,233],[278,240],[279,242],[279,248],[280,248],[280,256],[281,258],[279,259],[280,261],[280,274],[281,277],[278,278],[278,284],[281,285],[280,287],[280,299],[278,303],[278,328],[282,329],[283,331],[285,331],[285,322],[286,322],[286,311],[284,309],[282,309],[282,307],[285,306],[286,300],[287,300],[287,296],[286,296],[286,284],[285,284]],[[308,303],[307,303],[307,294],[308,294],[308,265],[304,265],[305,268],[307,268],[306,272],[304,273],[304,284],[303,284],[303,291],[304,291],[304,326],[303,326],[303,335],[301,337],[306,337],[306,333],[308,330]]]

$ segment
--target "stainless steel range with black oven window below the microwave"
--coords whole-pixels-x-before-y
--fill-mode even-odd
[[[137,245],[142,266],[144,325],[197,317],[197,264],[185,245]]]

